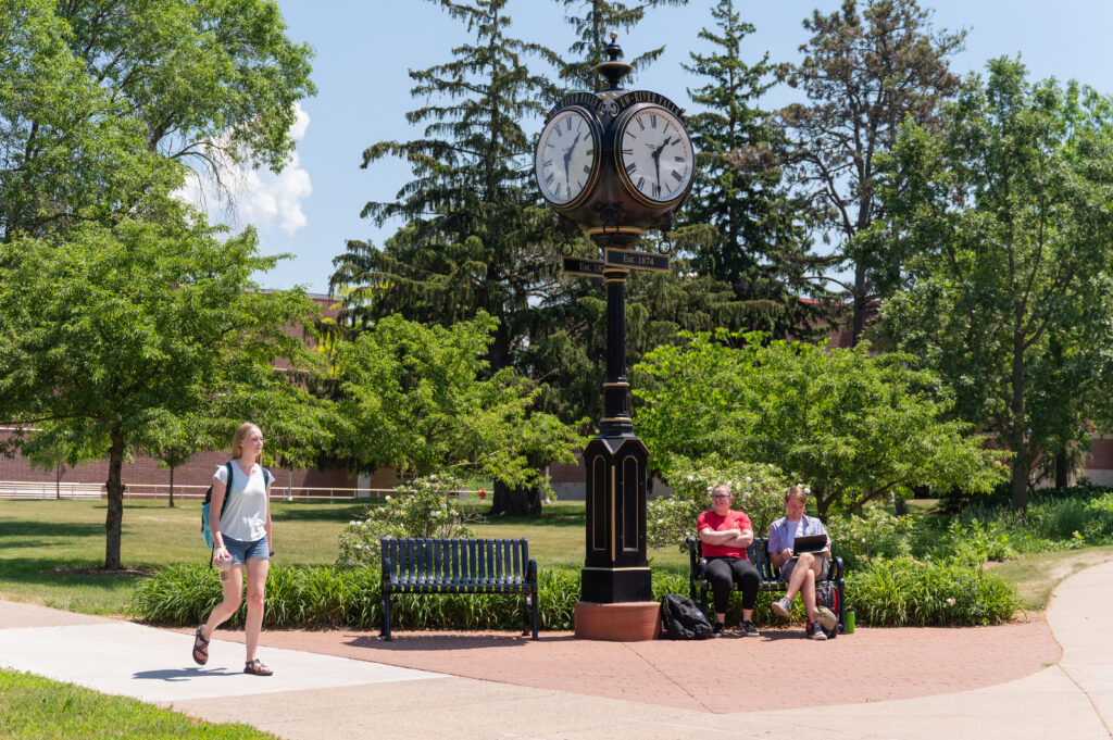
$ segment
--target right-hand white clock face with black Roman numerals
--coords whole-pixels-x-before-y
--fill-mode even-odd
[[[679,200],[695,174],[692,140],[671,111],[638,106],[619,124],[614,154],[627,189],[650,205]]]

